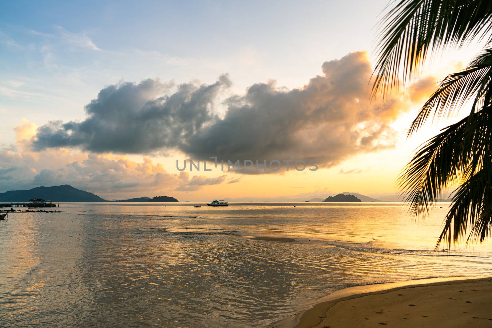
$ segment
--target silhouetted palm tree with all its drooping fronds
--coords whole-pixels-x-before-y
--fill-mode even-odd
[[[436,247],[465,234],[467,243],[482,242],[492,231],[492,1],[396,0],[390,6],[379,25],[373,95],[407,83],[436,51],[486,42],[468,67],[441,81],[408,136],[429,117],[449,117],[465,107],[469,115],[424,143],[398,179],[416,217],[458,185]]]

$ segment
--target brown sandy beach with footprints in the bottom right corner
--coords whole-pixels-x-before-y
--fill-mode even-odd
[[[492,327],[492,278],[437,282],[328,300],[296,328]]]

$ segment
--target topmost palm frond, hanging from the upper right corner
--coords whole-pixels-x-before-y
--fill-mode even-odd
[[[373,95],[398,88],[432,51],[487,38],[492,30],[492,1],[400,0],[378,25]],[[400,72],[401,71],[401,72]]]

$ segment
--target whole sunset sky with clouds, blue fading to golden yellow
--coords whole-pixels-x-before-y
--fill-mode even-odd
[[[416,111],[479,48],[446,50],[371,100],[386,4],[3,1],[0,192],[66,183],[106,199],[394,199],[412,152],[447,123],[407,139]],[[220,160],[283,165],[222,171]],[[307,167],[287,171],[289,160]]]

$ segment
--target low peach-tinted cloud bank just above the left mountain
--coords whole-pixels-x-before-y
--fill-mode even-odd
[[[225,179],[225,176],[194,176],[190,179],[187,172],[170,174],[149,158],[138,163],[124,156],[72,154],[67,149],[42,151],[35,155],[37,157],[0,151],[0,192],[70,184],[102,197],[133,197],[196,191],[206,185],[220,184]]]

